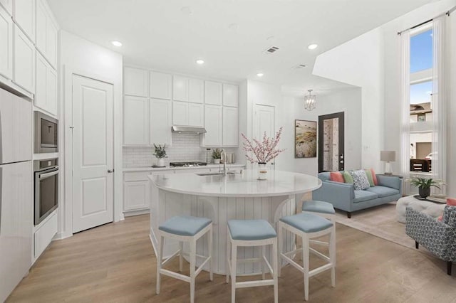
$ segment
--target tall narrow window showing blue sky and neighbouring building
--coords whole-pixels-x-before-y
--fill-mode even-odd
[[[432,26],[410,35],[410,171],[432,171]]]

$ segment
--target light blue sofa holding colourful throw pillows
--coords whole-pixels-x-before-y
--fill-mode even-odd
[[[312,193],[314,200],[332,203],[334,208],[347,212],[398,201],[402,197],[402,181],[395,176],[377,176],[378,185],[364,191],[355,191],[353,184],[331,181],[329,171],[318,174],[321,187]]]

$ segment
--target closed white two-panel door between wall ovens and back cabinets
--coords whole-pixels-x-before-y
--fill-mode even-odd
[[[113,85],[73,75],[73,233],[113,221]]]

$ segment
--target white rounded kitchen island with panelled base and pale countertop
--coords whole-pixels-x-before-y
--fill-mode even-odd
[[[212,219],[214,225],[214,272],[226,274],[227,222],[231,219],[264,219],[274,227],[281,216],[296,212],[296,198],[321,186],[321,181],[306,174],[269,171],[267,180],[257,180],[257,171],[242,174],[162,174],[149,176],[151,186],[150,238],[157,252],[158,226],[172,216],[198,216]],[[286,234],[287,251],[294,237]],[[163,255],[172,255],[178,243],[165,240]],[[188,247],[184,246],[188,251]],[[197,255],[207,254],[207,239],[197,245]],[[155,253],[155,255],[157,255]],[[257,257],[259,248],[239,248],[238,255]],[[270,252],[268,252],[270,255]],[[198,260],[197,260],[198,261]],[[198,262],[197,262],[198,263]],[[259,264],[239,264],[239,274],[260,272]]]

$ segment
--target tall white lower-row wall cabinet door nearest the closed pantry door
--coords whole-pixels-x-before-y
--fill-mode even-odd
[[[123,98],[123,144],[149,144],[149,100],[145,97]]]

